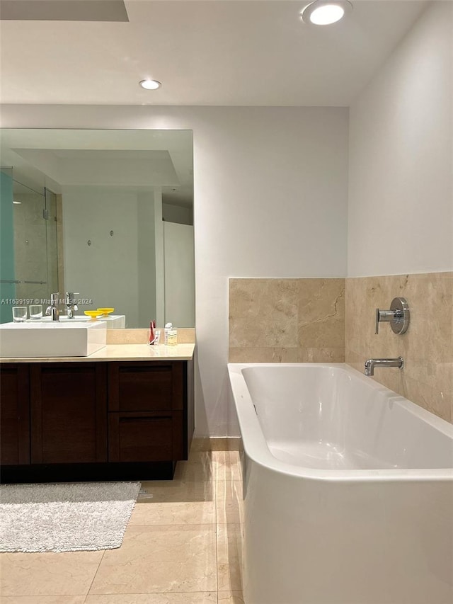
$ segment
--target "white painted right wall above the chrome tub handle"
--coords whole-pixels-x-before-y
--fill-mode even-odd
[[[350,107],[350,276],[453,269],[452,17],[428,6]]]

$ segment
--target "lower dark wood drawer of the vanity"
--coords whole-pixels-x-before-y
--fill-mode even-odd
[[[176,416],[149,411],[108,414],[109,462],[179,459],[181,421],[180,412],[176,412]]]

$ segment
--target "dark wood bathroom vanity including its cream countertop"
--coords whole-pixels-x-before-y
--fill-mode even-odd
[[[2,482],[171,479],[195,427],[193,348],[2,360]]]

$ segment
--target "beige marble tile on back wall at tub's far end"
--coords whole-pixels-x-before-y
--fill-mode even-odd
[[[342,363],[344,279],[230,279],[230,363]]]

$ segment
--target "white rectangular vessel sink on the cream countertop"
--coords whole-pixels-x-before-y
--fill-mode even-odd
[[[0,325],[0,358],[88,356],[107,341],[105,321],[30,321]]]

